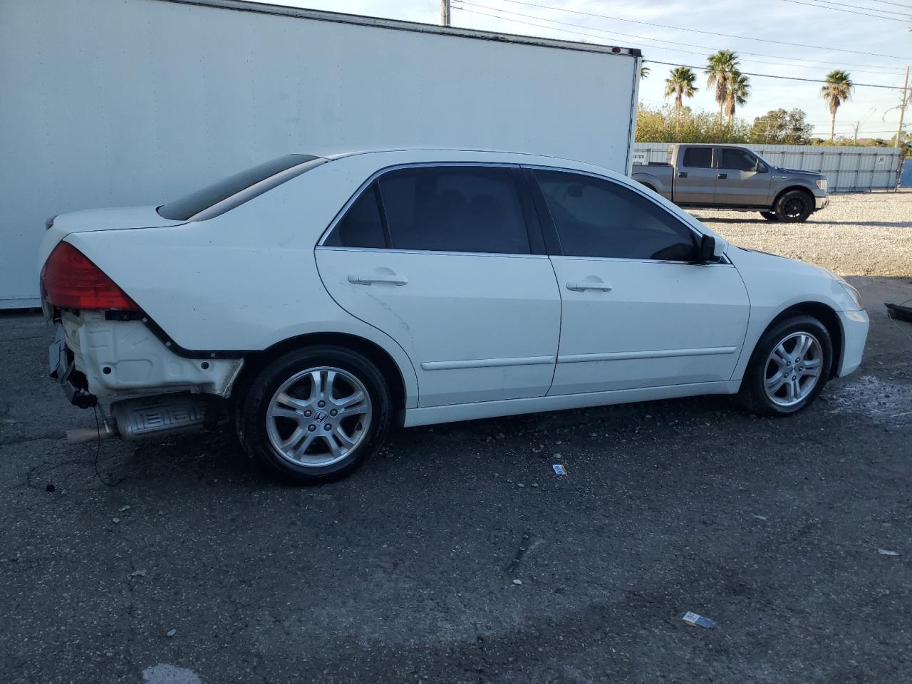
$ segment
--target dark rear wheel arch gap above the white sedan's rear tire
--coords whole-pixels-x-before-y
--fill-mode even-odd
[[[265,368],[267,364],[275,360],[275,358],[279,358],[283,354],[294,349],[311,347],[314,345],[336,345],[337,347],[345,347],[357,351],[359,354],[368,358],[377,366],[381,375],[387,381],[387,385],[389,385],[389,391],[392,395],[390,400],[393,409],[396,412],[405,409],[406,399],[408,397],[408,387],[402,370],[399,368],[399,364],[396,363],[396,360],[386,349],[380,347],[376,342],[373,342],[366,337],[352,335],[351,333],[306,333],[304,335],[288,337],[281,342],[276,342],[263,351],[254,351],[247,354],[244,357],[244,368],[241,369],[241,373],[234,381],[233,396],[240,398],[256,375]]]

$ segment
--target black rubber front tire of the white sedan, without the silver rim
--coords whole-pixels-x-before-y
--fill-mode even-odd
[[[782,402],[786,401],[785,397],[777,397],[779,401],[774,401],[768,395],[766,390],[766,382],[769,375],[769,365],[775,365],[775,361],[772,361],[770,358],[773,352],[773,349],[777,347],[782,340],[789,338],[790,336],[804,334],[814,337],[820,347],[819,354],[819,375],[816,378],[816,383],[813,388],[807,393],[806,396],[795,401],[793,405],[783,406]],[[785,348],[788,351],[792,351],[793,347],[790,348],[787,343]],[[799,383],[801,380],[801,373],[804,371],[801,361],[796,361],[796,358],[791,354],[788,355],[789,362],[793,366],[789,367],[789,372],[794,372],[794,368],[800,368],[801,371],[796,373],[793,378],[799,378]],[[803,361],[806,363],[808,359],[813,358],[812,356],[805,357]],[[763,336],[760,338],[760,341],[757,343],[757,346],[754,347],[753,354],[751,354],[751,361],[748,363],[747,370],[744,371],[744,378],[741,380],[741,390],[738,393],[738,401],[744,409],[747,409],[753,413],[756,413],[761,416],[788,416],[801,409],[804,409],[810,405],[814,399],[820,394],[824,389],[826,381],[830,377],[830,368],[833,365],[833,341],[830,338],[830,333],[827,331],[824,324],[813,316],[791,316],[786,318],[779,323],[776,323],[769,330],[763,333]],[[778,372],[778,371],[777,371]],[[772,374],[770,379],[777,378],[778,376],[775,373]],[[786,377],[786,379],[788,379]],[[780,391],[782,391],[780,389]],[[785,394],[788,393],[788,388],[785,388]]]

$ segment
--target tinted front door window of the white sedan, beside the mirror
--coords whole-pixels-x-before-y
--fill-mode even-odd
[[[535,171],[564,254],[691,261],[687,225],[623,185],[565,171]]]

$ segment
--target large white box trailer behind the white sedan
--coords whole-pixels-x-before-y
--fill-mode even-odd
[[[0,308],[49,216],[290,152],[463,148],[628,173],[637,49],[239,0],[0,2]]]

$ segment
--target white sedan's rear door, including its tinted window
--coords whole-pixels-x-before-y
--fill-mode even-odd
[[[385,171],[350,202],[316,263],[339,306],[409,355],[420,407],[550,387],[560,293],[518,167]]]

